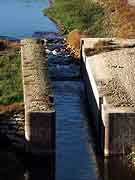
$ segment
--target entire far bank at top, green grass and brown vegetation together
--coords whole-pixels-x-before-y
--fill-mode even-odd
[[[135,38],[135,7],[123,0],[53,0],[44,14],[68,33],[79,29],[91,37]]]

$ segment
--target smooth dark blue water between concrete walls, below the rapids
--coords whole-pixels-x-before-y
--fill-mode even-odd
[[[57,111],[57,180],[96,179],[94,161],[90,161],[88,153],[82,82],[57,81],[53,87]]]

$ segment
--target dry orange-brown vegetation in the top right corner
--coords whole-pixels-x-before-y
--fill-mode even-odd
[[[102,0],[102,3],[106,35],[135,38],[135,7],[129,6],[124,0]]]

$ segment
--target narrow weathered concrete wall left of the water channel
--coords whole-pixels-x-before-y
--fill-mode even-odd
[[[45,45],[40,39],[21,41],[27,151],[47,154],[55,151],[55,110],[48,77]]]

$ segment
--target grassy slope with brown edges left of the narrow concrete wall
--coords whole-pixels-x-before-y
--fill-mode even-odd
[[[22,110],[20,42],[0,40],[0,112]],[[20,111],[19,110],[19,111]]]

